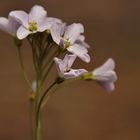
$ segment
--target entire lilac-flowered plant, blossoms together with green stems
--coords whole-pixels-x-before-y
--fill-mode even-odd
[[[31,112],[34,113],[35,140],[42,139],[41,110],[54,86],[65,84],[65,81],[94,80],[109,92],[115,89],[117,75],[112,58],[92,71],[72,68],[76,58],[90,62],[90,46],[85,42],[84,26],[81,23],[68,25],[58,18],[48,17],[42,6],[35,5],[29,14],[15,10],[9,13],[8,18],[0,17],[0,29],[13,37],[23,76],[32,91],[30,101],[34,106],[34,111]],[[35,70],[35,80],[31,80],[33,82],[30,81],[23,63],[21,48],[24,39],[27,39],[32,50]],[[56,75],[51,73],[54,64],[58,72]],[[50,73],[54,81],[45,85]]]

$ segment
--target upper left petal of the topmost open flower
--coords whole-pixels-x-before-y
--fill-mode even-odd
[[[17,22],[28,28],[28,14],[21,10],[15,10],[9,13],[9,16],[14,18]]]

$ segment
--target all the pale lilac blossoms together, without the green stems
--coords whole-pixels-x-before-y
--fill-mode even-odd
[[[31,8],[29,14],[22,10],[15,10],[9,13],[8,19],[1,17],[0,29],[11,34],[18,41],[25,38],[29,39],[37,33],[49,34],[52,42],[59,46],[61,52],[67,53],[63,60],[54,57],[60,78],[81,77],[85,80],[93,79],[108,91],[114,90],[114,82],[117,80],[117,76],[114,71],[115,62],[113,59],[108,59],[104,65],[92,72],[85,69],[71,68],[77,57],[86,63],[90,62],[89,45],[85,42],[82,24],[67,25],[58,18],[48,17],[47,11],[43,7],[35,5]]]

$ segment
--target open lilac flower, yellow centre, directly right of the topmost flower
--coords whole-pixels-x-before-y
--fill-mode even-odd
[[[82,33],[84,33],[84,27],[80,23],[73,23],[69,26],[57,24],[51,29],[52,38],[58,45],[88,63],[90,62],[87,49],[89,46],[84,42]]]

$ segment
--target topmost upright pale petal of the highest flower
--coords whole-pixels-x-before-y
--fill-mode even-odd
[[[29,13],[29,22],[36,21],[37,23],[47,16],[47,11],[39,5],[35,5],[31,8]]]

